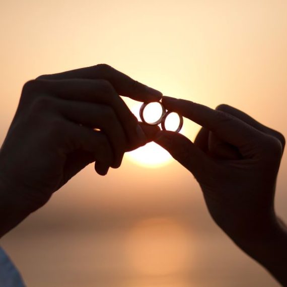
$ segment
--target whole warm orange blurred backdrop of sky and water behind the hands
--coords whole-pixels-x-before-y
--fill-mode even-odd
[[[166,95],[227,103],[287,135],[287,2],[0,3],[0,140],[23,84],[108,63]],[[185,121],[186,135],[198,127]],[[276,210],[287,220],[286,156]],[[178,163],[90,166],[2,240],[29,286],[277,286],[212,222]]]

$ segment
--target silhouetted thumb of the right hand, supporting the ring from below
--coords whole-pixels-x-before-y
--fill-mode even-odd
[[[201,181],[209,177],[214,162],[184,135],[174,131],[160,131],[155,142]]]

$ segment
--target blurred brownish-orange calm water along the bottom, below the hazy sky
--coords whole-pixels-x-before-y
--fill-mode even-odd
[[[95,228],[28,220],[2,245],[28,286],[278,286],[221,234],[157,217]]]

